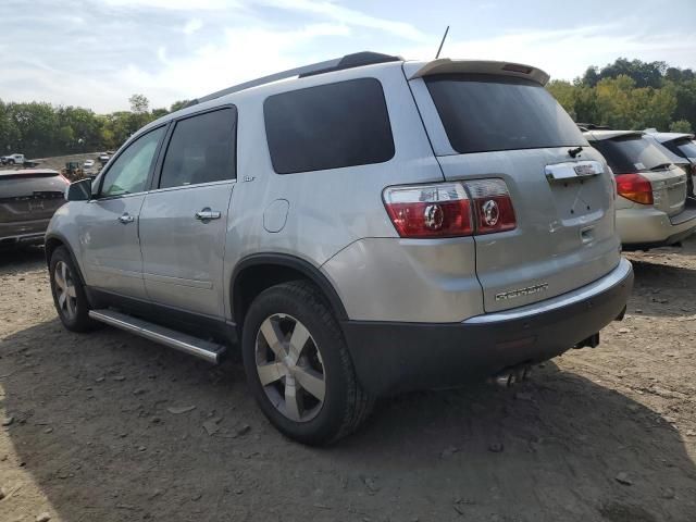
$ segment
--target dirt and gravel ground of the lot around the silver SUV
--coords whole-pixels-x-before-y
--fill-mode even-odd
[[[2,252],[0,521],[696,521],[696,240],[631,259],[599,348],[512,389],[384,400],[311,449],[234,362],[66,333],[42,252]]]

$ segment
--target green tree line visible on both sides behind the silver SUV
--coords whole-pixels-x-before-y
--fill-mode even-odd
[[[621,129],[696,130],[696,73],[691,69],[620,58],[601,69],[588,67],[573,82],[555,79],[548,90],[576,122]],[[142,95],[128,101],[129,111],[96,114],[79,107],[0,100],[0,153],[44,158],[114,150],[142,125],[187,103],[150,110]]]

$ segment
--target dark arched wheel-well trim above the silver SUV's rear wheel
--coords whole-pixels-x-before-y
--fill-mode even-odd
[[[271,286],[298,278],[309,281],[319,288],[339,322],[348,319],[338,293],[319,268],[296,256],[254,253],[237,263],[229,283],[229,306],[237,327],[241,327],[256,296]]]

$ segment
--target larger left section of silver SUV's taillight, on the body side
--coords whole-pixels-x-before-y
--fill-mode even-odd
[[[460,183],[388,187],[384,204],[401,237],[456,237],[473,232],[469,196]]]

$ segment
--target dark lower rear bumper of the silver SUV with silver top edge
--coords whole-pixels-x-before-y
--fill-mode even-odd
[[[617,319],[632,286],[633,269],[622,259],[577,290],[461,323],[346,321],[343,328],[372,394],[451,387],[567,351]]]

